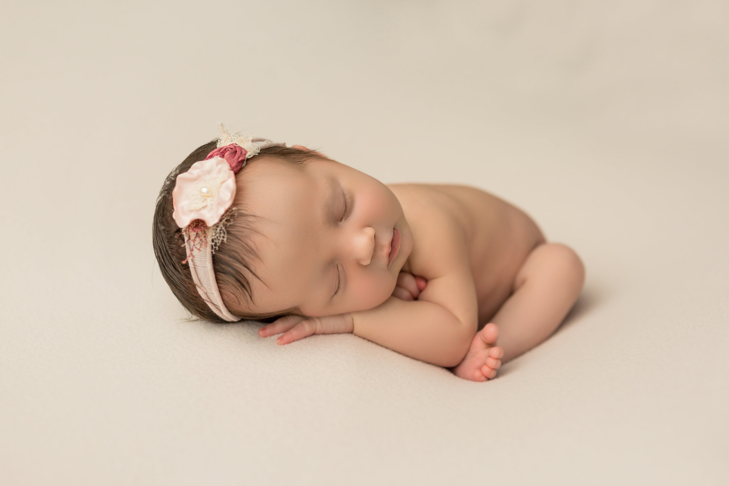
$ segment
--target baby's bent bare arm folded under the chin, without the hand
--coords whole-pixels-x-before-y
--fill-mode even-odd
[[[408,219],[417,242],[410,268],[427,281],[416,301],[390,297],[353,313],[353,332],[412,358],[453,367],[463,359],[478,324],[476,288],[463,228],[434,204]]]

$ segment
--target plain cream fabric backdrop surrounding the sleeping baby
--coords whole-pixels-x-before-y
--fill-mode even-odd
[[[2,10],[3,484],[729,484],[725,1]],[[505,197],[584,294],[485,384],[188,322],[152,208],[219,121]]]

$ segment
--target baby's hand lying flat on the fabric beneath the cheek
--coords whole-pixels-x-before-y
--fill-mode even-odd
[[[289,344],[289,342],[300,340],[303,337],[311,336],[311,334],[341,334],[352,332],[353,329],[354,320],[351,313],[327,315],[325,317],[284,315],[284,317],[258,329],[258,335],[267,337],[283,332],[284,334],[278,336],[276,342],[278,344]]]

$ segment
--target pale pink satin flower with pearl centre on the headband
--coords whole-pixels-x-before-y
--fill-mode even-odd
[[[234,197],[235,173],[227,160],[222,157],[200,160],[177,176],[172,190],[172,218],[181,228],[195,219],[202,219],[211,227],[233,205]]]

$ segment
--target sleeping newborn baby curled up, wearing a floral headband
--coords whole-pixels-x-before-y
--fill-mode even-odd
[[[281,345],[351,332],[486,381],[574,305],[580,257],[480,189],[385,185],[303,146],[226,133],[168,176],[157,262],[192,314]]]

